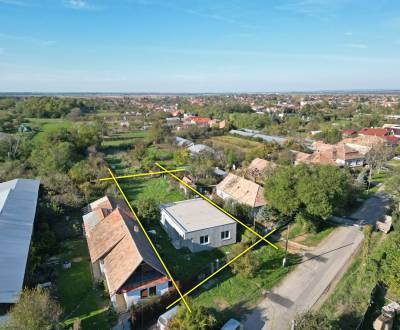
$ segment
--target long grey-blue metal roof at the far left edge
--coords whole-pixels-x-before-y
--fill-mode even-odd
[[[40,181],[0,183],[0,303],[18,300],[25,276]]]

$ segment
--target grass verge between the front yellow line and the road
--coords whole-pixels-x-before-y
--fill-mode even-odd
[[[243,314],[262,299],[299,261],[299,257],[289,255],[289,267],[283,268],[282,249],[275,250],[264,246],[254,253],[261,262],[261,268],[254,278],[243,278],[232,274],[230,270],[224,270],[217,281],[210,281],[211,288],[193,298],[193,303],[216,309],[222,322],[232,317],[241,319]]]

